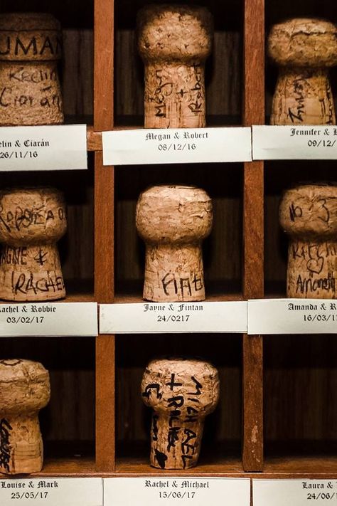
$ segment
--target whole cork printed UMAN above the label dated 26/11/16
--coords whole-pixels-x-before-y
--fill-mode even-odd
[[[63,123],[57,62],[60,23],[50,14],[0,15],[0,125]]]

